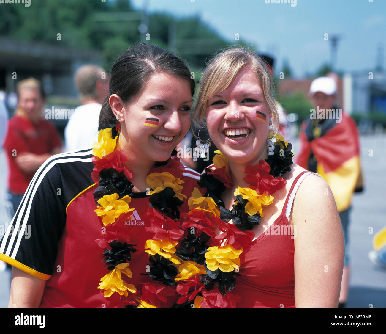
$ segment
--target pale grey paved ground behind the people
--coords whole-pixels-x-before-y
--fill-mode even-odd
[[[298,141],[293,141],[294,152]],[[372,151],[369,151],[372,150]],[[371,156],[372,155],[372,156]],[[351,278],[347,307],[386,307],[386,270],[372,264],[367,253],[372,250],[374,233],[386,225],[386,135],[361,137],[361,160],[365,191],[354,195],[349,227]],[[6,165],[0,152],[0,225],[9,222],[3,205]],[[11,272],[0,271],[0,307],[9,300]]]

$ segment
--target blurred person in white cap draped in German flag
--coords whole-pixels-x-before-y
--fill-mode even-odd
[[[362,190],[359,136],[356,124],[334,103],[337,84],[332,78],[313,80],[309,96],[316,109],[301,125],[300,152],[296,164],[320,174],[331,188],[344,232],[345,259],[339,306],[344,307],[349,282],[347,254],[349,210],[354,191]]]

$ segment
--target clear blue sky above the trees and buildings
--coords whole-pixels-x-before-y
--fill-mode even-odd
[[[379,45],[386,68],[386,0],[297,0],[296,6],[265,1],[147,0],[149,12],[199,15],[229,43],[236,43],[237,33],[240,41],[253,44],[259,52],[273,53],[276,73],[285,59],[296,77],[314,73],[328,63],[330,40],[324,40],[325,33],[341,37],[338,70],[374,70]],[[131,0],[136,9],[142,9],[143,2]]]

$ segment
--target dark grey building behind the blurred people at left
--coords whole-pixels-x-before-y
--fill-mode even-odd
[[[0,90],[10,95],[17,82],[34,77],[43,83],[47,93],[47,108],[54,101],[55,108],[75,107],[79,104],[74,84],[76,70],[86,63],[99,65],[102,56],[98,51],[53,46],[47,43],[19,41],[0,37]],[[14,109],[8,105],[9,116]],[[63,133],[68,119],[53,119]]]

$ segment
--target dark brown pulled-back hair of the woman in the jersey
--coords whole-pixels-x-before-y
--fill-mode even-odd
[[[194,95],[195,81],[191,79],[190,70],[174,53],[146,43],[136,44],[124,51],[111,68],[108,95],[100,112],[98,130],[118,124],[108,102],[110,95],[117,94],[123,102],[127,102],[145,87],[151,75],[161,72],[189,80],[191,94]]]

